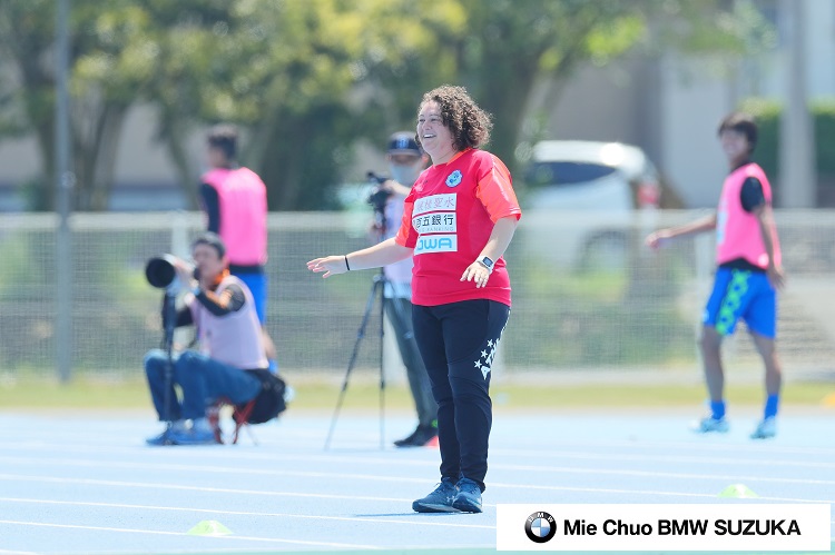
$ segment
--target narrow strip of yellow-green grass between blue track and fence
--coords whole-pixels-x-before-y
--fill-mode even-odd
[[[335,379],[293,379],[296,398],[294,409],[332,409],[342,386]],[[698,406],[705,399],[700,384],[625,385],[530,385],[505,381],[491,387],[493,404],[499,410],[553,410],[582,408],[674,408]],[[763,400],[759,384],[729,385],[727,399],[735,405],[757,406]],[[835,383],[796,383],[784,388],[783,404],[835,410]],[[375,409],[380,405],[379,384],[367,377],[348,383],[344,409]],[[385,405],[411,409],[412,400],[405,385],[389,385]],[[145,381],[91,380],[78,378],[67,384],[46,379],[21,379],[0,384],[0,410],[26,409],[148,409],[150,397]]]

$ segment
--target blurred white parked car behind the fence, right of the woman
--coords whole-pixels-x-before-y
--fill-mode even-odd
[[[622,268],[636,214],[661,199],[656,167],[620,142],[538,142],[522,180],[531,245],[578,269]]]

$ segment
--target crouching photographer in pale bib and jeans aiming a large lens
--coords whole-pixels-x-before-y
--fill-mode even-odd
[[[149,445],[215,443],[207,407],[224,398],[236,406],[256,399],[250,422],[266,422],[286,406],[284,381],[271,374],[261,323],[252,293],[232,276],[226,247],[216,234],[206,232],[191,244],[194,266],[166,255],[148,262],[146,276],[166,288],[163,324],[166,330],[195,325],[199,350],[171,353],[153,349],[145,357],[145,373],[160,422],[167,423]],[[171,289],[185,288],[185,306],[169,309]],[[170,321],[174,319],[174,321]],[[181,397],[177,397],[179,386]]]

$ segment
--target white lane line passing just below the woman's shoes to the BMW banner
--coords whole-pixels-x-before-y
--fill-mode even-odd
[[[217,515],[239,515],[239,516],[268,516],[268,517],[286,517],[286,518],[306,518],[313,521],[343,521],[343,522],[360,522],[360,523],[384,523],[384,524],[405,524],[409,526],[425,525],[425,526],[444,526],[451,528],[484,528],[495,529],[495,526],[484,524],[460,524],[460,523],[443,523],[443,522],[430,522],[425,518],[413,518],[413,519],[397,519],[397,518],[371,518],[363,516],[323,516],[323,515],[304,515],[301,513],[259,513],[254,511],[228,511],[228,509],[215,509],[215,508],[195,508],[195,507],[171,507],[171,506],[159,506],[159,505],[135,505],[127,503],[98,503],[98,502],[78,502],[78,501],[57,501],[57,499],[32,499],[21,497],[0,497],[0,502],[8,503],[31,503],[41,505],[71,505],[71,506],[84,506],[84,507],[108,507],[108,508],[136,508],[146,511],[174,511],[184,513],[206,513]],[[415,513],[416,516],[416,513]]]

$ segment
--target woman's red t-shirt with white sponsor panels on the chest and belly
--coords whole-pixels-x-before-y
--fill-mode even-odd
[[[495,221],[521,215],[510,171],[490,152],[466,149],[424,170],[405,199],[394,239],[414,249],[412,303],[490,299],[510,306],[504,258],[495,260],[487,287],[477,289],[461,275],[478,260]]]

